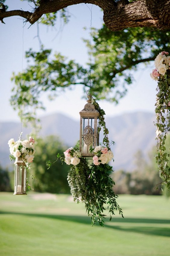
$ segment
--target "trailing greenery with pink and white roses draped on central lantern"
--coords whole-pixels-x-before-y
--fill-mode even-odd
[[[113,191],[115,182],[110,177],[110,173],[113,170],[112,166],[109,165],[109,161],[113,159],[113,153],[109,145],[109,131],[104,120],[105,112],[91,95],[88,98],[99,112],[99,130],[102,127],[104,135],[103,146],[99,145],[94,149],[90,148],[94,156],[93,159],[87,159],[81,157],[78,142],[74,148],[71,147],[64,152],[64,157],[58,154],[57,159],[60,158],[61,161],[71,165],[68,172],[68,184],[73,200],[76,203],[81,200],[85,204],[86,212],[88,216],[91,216],[92,226],[96,223],[96,219],[100,226],[104,226],[104,219],[107,215],[105,214],[106,210],[108,210],[110,216],[109,220],[115,215],[115,210],[118,210],[122,217],[123,212],[116,201],[118,196]],[[113,141],[112,144],[114,144]],[[50,166],[50,163],[48,165]]]

